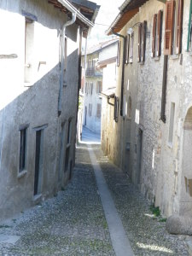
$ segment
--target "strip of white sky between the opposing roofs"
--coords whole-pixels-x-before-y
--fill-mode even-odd
[[[119,6],[124,3],[125,0],[92,0],[92,2],[101,5],[96,17],[96,23],[110,26],[119,14]],[[95,25],[91,29],[88,39],[88,48],[94,44],[108,40],[108,36],[105,35],[108,26]]]

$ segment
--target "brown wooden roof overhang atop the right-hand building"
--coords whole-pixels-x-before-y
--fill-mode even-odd
[[[120,32],[126,23],[135,16],[139,8],[148,0],[125,0],[125,2],[119,7],[119,15],[113,20],[111,26],[107,30],[107,35],[113,34],[113,32]]]

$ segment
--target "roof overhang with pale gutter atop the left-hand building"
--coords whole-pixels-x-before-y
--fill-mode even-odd
[[[69,18],[72,17],[72,13],[75,13],[77,17],[75,22],[83,28],[84,36],[86,36],[89,29],[94,26],[93,22],[87,19],[84,15],[82,15],[79,9],[76,9],[72,3],[69,3],[69,1],[48,0],[48,3],[53,4],[56,9],[60,9],[61,12],[67,14]]]

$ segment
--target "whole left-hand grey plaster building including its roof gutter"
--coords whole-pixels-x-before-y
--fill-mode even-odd
[[[79,49],[93,23],[65,0],[0,1],[0,21],[0,218],[9,218],[72,175]]]

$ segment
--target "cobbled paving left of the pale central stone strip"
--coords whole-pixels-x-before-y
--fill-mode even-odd
[[[65,191],[0,224],[0,236],[20,236],[0,255],[114,255],[87,149],[76,163]]]

